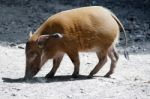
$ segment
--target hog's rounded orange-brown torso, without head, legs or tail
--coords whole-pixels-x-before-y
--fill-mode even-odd
[[[81,51],[107,48],[114,44],[119,35],[118,24],[111,12],[99,6],[60,12],[51,16],[45,24],[47,33],[67,35],[73,39],[70,46],[78,44],[76,46]]]

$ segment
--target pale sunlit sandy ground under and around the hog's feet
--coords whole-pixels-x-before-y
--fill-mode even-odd
[[[129,61],[120,55],[111,78],[103,77],[109,60],[93,79],[86,76],[98,62],[94,53],[80,53],[77,79],[70,76],[73,65],[66,55],[55,78],[44,79],[52,66],[50,60],[32,81],[24,82],[24,49],[0,49],[0,99],[150,99],[150,54],[130,55]]]

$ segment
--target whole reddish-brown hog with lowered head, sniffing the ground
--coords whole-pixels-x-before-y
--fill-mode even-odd
[[[65,53],[74,64],[72,76],[77,77],[80,66],[79,52],[83,51],[96,52],[99,59],[88,77],[92,77],[103,67],[107,56],[111,65],[105,77],[110,77],[118,61],[115,45],[120,29],[124,32],[127,46],[123,25],[110,10],[101,6],[76,8],[52,15],[35,33],[30,33],[25,49],[25,79],[35,76],[49,59],[53,59],[53,67],[46,78],[53,77]],[[126,49],[125,56],[128,56]]]

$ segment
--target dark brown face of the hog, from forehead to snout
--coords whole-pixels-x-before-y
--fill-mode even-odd
[[[40,70],[41,52],[36,42],[28,41],[26,43],[26,71],[25,79],[31,79]]]

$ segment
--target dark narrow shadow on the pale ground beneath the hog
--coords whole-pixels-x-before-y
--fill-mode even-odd
[[[77,81],[77,80],[89,80],[94,78],[88,78],[85,75],[79,75],[78,78],[72,78],[70,75],[55,76],[51,79],[45,79],[44,77],[34,77],[31,80],[24,80],[24,78],[12,79],[2,78],[3,82],[7,83],[53,83],[53,82],[64,82],[64,81]]]

